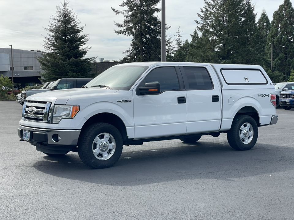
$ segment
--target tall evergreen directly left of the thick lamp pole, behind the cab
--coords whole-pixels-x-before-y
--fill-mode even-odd
[[[126,10],[113,12],[124,17],[123,24],[115,22],[120,30],[116,34],[132,36],[130,48],[124,53],[120,63],[161,60],[161,21],[155,13],[160,12],[156,5],[160,0],[123,0],[119,5]],[[167,28],[168,29],[168,28]]]

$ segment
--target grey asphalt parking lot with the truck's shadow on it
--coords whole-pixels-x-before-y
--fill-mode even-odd
[[[225,134],[151,142],[102,170],[19,141],[21,110],[0,101],[0,219],[294,219],[294,109],[277,109],[250,151]]]

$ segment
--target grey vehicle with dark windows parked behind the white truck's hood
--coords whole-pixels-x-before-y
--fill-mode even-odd
[[[41,92],[48,92],[51,90],[63,90],[63,89],[73,89],[73,88],[81,88],[92,79],[88,78],[68,78],[68,79],[58,79],[55,82],[51,82],[46,89],[32,89],[26,90],[21,93],[21,98],[19,102],[21,105],[24,105],[24,102],[28,96],[33,94],[41,93]],[[49,87],[50,86],[50,87]]]

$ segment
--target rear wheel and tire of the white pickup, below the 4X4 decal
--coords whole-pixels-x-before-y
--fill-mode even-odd
[[[258,138],[256,121],[247,115],[236,116],[232,127],[227,133],[230,146],[236,150],[250,150]]]

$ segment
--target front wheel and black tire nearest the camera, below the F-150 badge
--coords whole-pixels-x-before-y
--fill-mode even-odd
[[[77,144],[81,160],[96,169],[113,166],[122,154],[123,138],[111,124],[94,123],[81,134]]]

